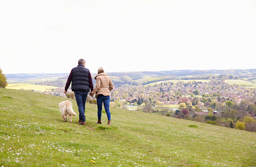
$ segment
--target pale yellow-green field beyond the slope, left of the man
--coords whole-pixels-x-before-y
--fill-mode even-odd
[[[34,84],[8,84],[6,87],[6,89],[16,89],[16,90],[34,90],[34,91],[40,91],[40,92],[44,92],[44,91],[48,91],[51,89],[55,89],[58,87],[55,86],[45,86],[45,85],[34,85]]]

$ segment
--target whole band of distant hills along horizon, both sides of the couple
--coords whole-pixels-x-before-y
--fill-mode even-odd
[[[48,79],[67,79],[69,73],[22,73],[5,74],[8,82],[18,80],[48,80]],[[96,73],[92,73],[94,77]],[[109,72],[115,85],[132,84],[146,85],[153,82],[165,81],[170,79],[210,79],[218,76],[226,79],[255,80],[256,69],[229,69],[229,70],[171,70],[171,71],[135,71],[135,72]],[[93,83],[96,81],[93,79]]]

